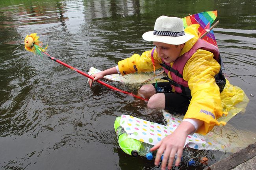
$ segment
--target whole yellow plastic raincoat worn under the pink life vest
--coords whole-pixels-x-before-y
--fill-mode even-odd
[[[197,42],[198,27],[195,24],[185,29],[186,33],[195,35],[195,37],[185,43],[179,56],[189,51]],[[136,71],[138,73],[153,71],[151,52],[152,50],[145,51],[141,56],[134,54],[130,58],[119,61],[120,73],[126,75]],[[162,63],[162,60],[161,57],[158,57],[156,50],[153,57],[155,68],[161,68],[162,66],[159,64]],[[173,65],[173,63],[170,64]],[[226,80],[224,90],[221,94],[219,93],[219,87],[214,76],[219,73],[220,68],[219,63],[213,58],[213,53],[203,49],[198,49],[184,67],[183,79],[188,81],[192,96],[184,119],[195,118],[204,121],[204,124],[198,128],[197,133],[206,134],[215,125],[225,125],[234,115],[245,111],[249,102],[243,90],[231,85],[228,80]],[[170,71],[168,77],[172,79]]]

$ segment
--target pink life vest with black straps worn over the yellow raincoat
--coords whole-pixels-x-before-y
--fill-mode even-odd
[[[182,56],[178,57],[171,67],[170,63],[160,64],[163,66],[165,73],[168,75],[169,71],[171,71],[171,77],[173,80],[168,79],[171,83],[172,88],[176,93],[181,93],[191,98],[190,90],[188,88],[188,82],[183,79],[183,70],[187,63],[187,61],[192,57],[192,55],[198,50],[204,49],[206,51],[210,51],[213,53],[213,58],[219,62],[221,65],[221,57],[219,53],[219,49],[216,46],[206,42],[205,40],[198,39],[195,45]],[[163,58],[162,58],[163,61]],[[220,92],[223,90],[226,79],[220,70],[220,72],[215,76],[215,81],[220,88]]]

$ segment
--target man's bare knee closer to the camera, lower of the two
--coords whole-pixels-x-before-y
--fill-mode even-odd
[[[148,100],[147,106],[150,109],[155,109],[155,108],[164,109],[165,95],[163,93],[156,93],[155,95],[152,95],[152,97],[150,97],[150,99]]]

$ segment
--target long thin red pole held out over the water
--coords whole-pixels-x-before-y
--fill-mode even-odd
[[[60,61],[60,60],[58,60],[58,59],[56,59],[56,58],[54,58],[54,57],[51,57],[51,56],[50,56],[48,53],[46,53],[45,51],[43,51],[43,53],[45,53],[46,55],[48,55],[48,58],[50,58],[51,60],[54,60],[54,61],[58,62],[59,64],[62,64],[63,66],[66,66],[67,68],[70,68],[70,69],[72,69],[72,70],[74,70],[74,71],[76,71],[76,72],[78,72],[78,73],[84,75],[85,77],[88,77],[89,79],[92,79],[92,80],[94,79],[94,77],[89,76],[88,74],[84,73],[83,71],[80,71],[79,69],[73,68],[72,66],[69,66],[69,65],[66,64],[65,62],[62,62],[62,61]],[[113,89],[113,90],[115,90],[115,91],[119,91],[119,92],[121,92],[121,93],[128,94],[128,95],[130,95],[130,96],[136,97],[136,98],[141,99],[141,100],[143,100],[143,101],[148,101],[148,99],[144,99],[143,97],[136,96],[136,95],[134,95],[133,93],[130,93],[130,92],[128,92],[128,91],[120,90],[120,89],[115,88],[115,87],[113,87],[113,86],[110,86],[109,84],[106,84],[106,83],[104,83],[104,82],[102,82],[102,81],[100,81],[100,80],[96,80],[96,82],[98,82],[98,83],[102,84],[103,86],[106,86],[106,87],[108,87],[108,88],[110,88],[110,89]]]

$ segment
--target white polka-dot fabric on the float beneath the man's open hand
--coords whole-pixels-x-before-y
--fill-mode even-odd
[[[128,137],[139,141],[156,145],[165,136],[170,135],[180,124],[182,119],[173,117],[170,113],[164,112],[167,126],[145,121],[130,115],[122,115],[120,125],[124,128]],[[194,149],[223,150],[225,146],[219,142],[206,139],[203,135],[194,133],[188,135],[184,145]]]

